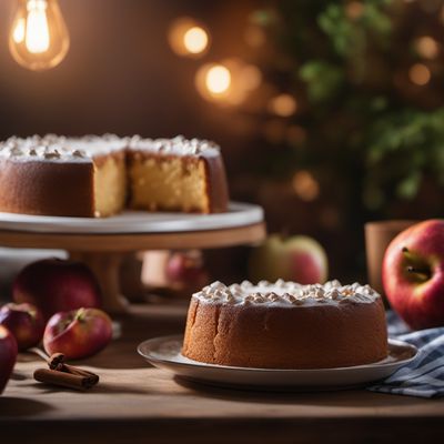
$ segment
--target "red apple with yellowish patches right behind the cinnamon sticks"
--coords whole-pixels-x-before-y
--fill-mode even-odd
[[[49,355],[63,353],[75,360],[98,353],[112,339],[112,322],[98,309],[56,313],[47,324],[43,347]]]

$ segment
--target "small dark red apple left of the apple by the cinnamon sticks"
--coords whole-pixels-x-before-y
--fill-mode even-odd
[[[43,337],[44,320],[32,304],[9,303],[0,309],[0,324],[16,337],[20,351],[37,345]]]

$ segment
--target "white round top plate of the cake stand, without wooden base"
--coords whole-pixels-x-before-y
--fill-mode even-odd
[[[0,229],[39,233],[168,233],[223,230],[262,221],[261,206],[240,202],[231,202],[226,213],[216,214],[124,211],[94,219],[0,213]]]

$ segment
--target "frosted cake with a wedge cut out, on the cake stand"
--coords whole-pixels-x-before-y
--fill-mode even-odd
[[[102,218],[125,208],[226,211],[220,149],[204,140],[58,135],[0,143],[0,211]]]

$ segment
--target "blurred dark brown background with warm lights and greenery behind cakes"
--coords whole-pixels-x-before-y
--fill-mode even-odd
[[[309,234],[331,275],[365,280],[363,225],[443,215],[441,0],[60,0],[70,49],[11,57],[0,2],[0,138],[198,137],[269,232]],[[243,279],[249,249],[205,253]]]

